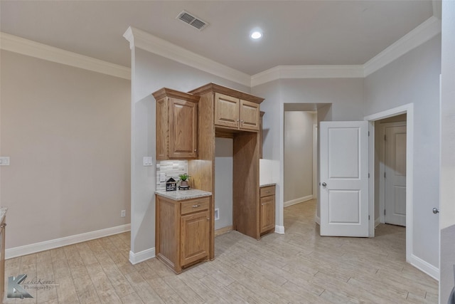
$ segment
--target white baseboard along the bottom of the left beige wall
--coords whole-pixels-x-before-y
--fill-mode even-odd
[[[32,243],[30,245],[18,246],[8,248],[5,250],[5,258],[16,258],[16,256],[25,256],[31,253],[37,253],[53,248],[68,246],[73,243],[80,243],[83,241],[90,241],[92,239],[100,239],[105,236],[112,236],[113,234],[121,234],[122,232],[130,231],[131,224],[115,226],[107,229],[86,232],[85,234],[76,234],[74,236],[65,236],[60,239],[53,239],[39,243]]]

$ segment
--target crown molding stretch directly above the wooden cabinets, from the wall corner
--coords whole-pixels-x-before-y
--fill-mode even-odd
[[[138,28],[130,26],[123,36],[129,41],[130,48],[141,48],[150,53],[178,63],[183,63],[198,70],[203,70],[204,72],[234,81],[235,83],[240,83],[247,87],[251,86],[250,75],[188,51],[186,48],[177,46],[150,33],[141,31]]]

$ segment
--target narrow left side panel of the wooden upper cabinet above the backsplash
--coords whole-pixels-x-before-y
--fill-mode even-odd
[[[168,157],[168,117],[167,98],[156,100],[156,159]]]

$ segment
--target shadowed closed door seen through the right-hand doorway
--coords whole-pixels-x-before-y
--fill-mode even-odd
[[[385,212],[387,224],[406,226],[406,126],[385,127]]]

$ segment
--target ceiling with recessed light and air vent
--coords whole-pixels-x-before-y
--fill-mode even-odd
[[[198,31],[183,10],[207,21]],[[0,30],[130,66],[134,26],[254,75],[277,65],[361,65],[433,16],[432,1],[0,1]],[[264,31],[251,41],[250,30]]]

